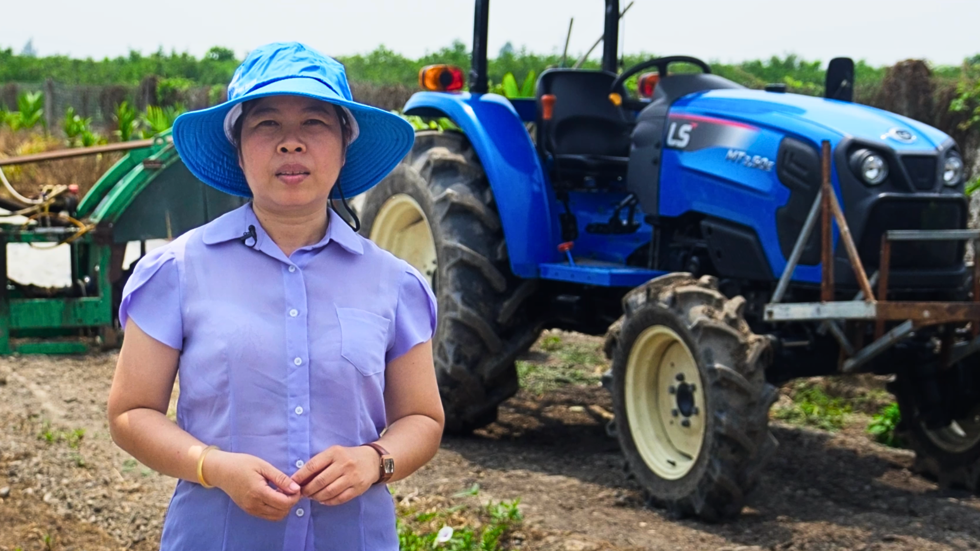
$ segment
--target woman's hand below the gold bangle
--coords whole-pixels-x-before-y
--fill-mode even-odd
[[[221,488],[249,515],[267,521],[286,518],[302,497],[299,484],[254,455],[213,450],[205,456],[202,469],[209,484]]]

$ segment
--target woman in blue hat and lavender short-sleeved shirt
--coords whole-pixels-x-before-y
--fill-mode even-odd
[[[328,204],[394,168],[412,127],[354,102],[343,67],[299,43],[253,51],[228,98],[178,118],[173,142],[252,201],[136,265],[113,438],[179,478],[162,549],[397,549],[384,482],[442,434],[435,299]]]

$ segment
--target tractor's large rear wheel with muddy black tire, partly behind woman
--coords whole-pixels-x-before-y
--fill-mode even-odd
[[[517,392],[517,355],[541,333],[528,304],[537,282],[511,273],[493,192],[466,136],[417,132],[360,211],[361,233],[429,277],[438,300],[433,345],[446,431],[493,423]]]

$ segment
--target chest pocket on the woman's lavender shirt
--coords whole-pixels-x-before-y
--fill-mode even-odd
[[[388,320],[359,308],[337,308],[340,322],[340,355],[361,372],[372,376],[384,371],[388,344]]]

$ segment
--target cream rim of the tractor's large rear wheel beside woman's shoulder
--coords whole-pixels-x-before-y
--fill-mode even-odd
[[[433,285],[438,267],[435,239],[425,213],[412,196],[399,193],[388,198],[378,209],[368,238],[411,264]]]

